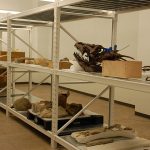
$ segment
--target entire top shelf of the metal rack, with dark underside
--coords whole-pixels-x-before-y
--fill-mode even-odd
[[[37,7],[20,14],[10,16],[15,23],[24,22],[28,25],[47,24],[54,21],[54,7],[51,3],[45,6]],[[61,21],[72,21],[77,19],[86,19],[90,17],[110,17],[114,12],[124,13],[150,8],[149,0],[64,0],[58,3],[61,7]],[[25,22],[29,20],[29,22]],[[6,19],[2,20],[6,22]],[[33,22],[37,21],[37,22]]]

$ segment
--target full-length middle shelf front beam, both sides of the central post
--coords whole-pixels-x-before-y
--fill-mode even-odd
[[[0,61],[2,66],[7,67],[8,63]],[[13,68],[20,68],[25,69],[28,71],[35,71],[47,74],[53,74],[55,69],[51,69],[48,67],[42,67],[39,65],[33,64],[21,64],[21,63],[11,63],[9,66]],[[119,78],[112,78],[112,77],[103,77],[101,73],[88,73],[88,72],[73,72],[68,69],[56,70],[56,74],[59,76],[65,76],[69,78],[79,79],[88,82],[97,82],[99,84],[104,85],[114,85],[120,88],[131,89],[135,91],[143,91],[143,92],[150,92],[150,84],[142,79],[119,79]]]

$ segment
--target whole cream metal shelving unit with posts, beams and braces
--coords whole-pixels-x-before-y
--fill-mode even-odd
[[[142,9],[150,8],[149,0],[56,0],[55,3],[51,3],[42,7],[38,7],[26,12],[9,16],[7,19],[2,19],[2,23],[7,23],[7,43],[8,43],[8,62],[0,62],[2,65],[7,66],[7,106],[1,106],[7,110],[7,113],[12,113],[16,117],[20,118],[22,121],[26,122],[33,128],[42,132],[51,138],[52,148],[57,147],[56,143],[59,143],[66,147],[69,150],[78,150],[76,146],[67,142],[63,138],[59,137],[58,134],[64,130],[75,118],[77,118],[82,111],[88,108],[95,99],[101,96],[105,91],[109,90],[109,125],[113,124],[113,104],[114,104],[114,88],[121,87],[126,89],[132,89],[143,92],[150,92],[150,85],[143,81],[139,80],[126,80],[126,79],[117,79],[110,77],[102,77],[100,74],[95,73],[86,73],[86,72],[71,72],[69,70],[59,70],[59,39],[60,39],[60,29],[65,31],[75,42],[78,40],[73,37],[62,25],[61,22],[68,22],[73,20],[87,19],[92,17],[98,18],[107,18],[112,20],[112,37],[111,45],[114,47],[117,41],[117,18],[120,13],[127,13],[132,11],[138,11]],[[11,34],[12,34],[12,25],[26,25],[26,26],[52,26],[53,27],[53,49],[52,49],[52,60],[53,60],[53,69],[35,66],[35,65],[26,65],[26,64],[17,64],[11,63]],[[17,38],[21,39],[17,35]],[[23,40],[21,40],[24,42]],[[25,43],[25,42],[24,42]],[[25,43],[26,44],[26,43]],[[30,45],[28,45],[33,51],[35,51]],[[38,52],[37,52],[38,53]],[[42,55],[40,55],[42,56]],[[52,102],[53,102],[53,116],[52,116],[52,131],[45,131],[38,125],[26,119],[24,116],[20,115],[18,112],[12,110],[9,107],[10,100],[10,88],[11,88],[11,69],[12,68],[22,68],[28,71],[37,71],[42,73],[47,73],[52,76]],[[77,113],[69,122],[67,122],[62,128],[57,129],[57,120],[58,120],[58,85],[59,85],[59,76],[65,76],[80,80],[86,80],[90,82],[96,82],[99,84],[106,85],[106,88],[97,95],[91,102],[89,102],[83,110]]]

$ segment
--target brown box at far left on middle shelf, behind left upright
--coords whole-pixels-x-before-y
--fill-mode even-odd
[[[7,61],[7,51],[0,51],[0,61]],[[11,59],[25,57],[25,52],[11,52]]]

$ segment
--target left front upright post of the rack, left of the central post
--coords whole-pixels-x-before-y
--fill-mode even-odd
[[[7,17],[7,107],[6,116],[9,116],[9,106],[11,104],[11,20]]]

